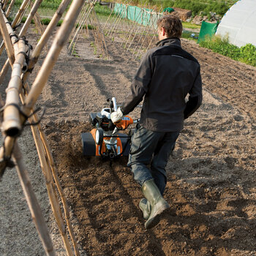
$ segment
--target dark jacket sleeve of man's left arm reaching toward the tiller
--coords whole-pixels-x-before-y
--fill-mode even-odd
[[[143,100],[143,96],[148,91],[148,86],[151,83],[152,77],[152,58],[151,51],[146,53],[143,60],[140,62],[135,78],[132,81],[129,94],[121,105],[121,111],[124,115],[132,112],[135,107]]]

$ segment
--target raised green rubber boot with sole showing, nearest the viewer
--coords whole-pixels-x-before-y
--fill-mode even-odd
[[[162,214],[167,208],[170,208],[169,204],[162,197],[157,185],[154,183],[154,180],[144,182],[141,187],[143,195],[146,197],[151,206],[151,213],[145,222],[146,229],[150,229],[158,224]]]

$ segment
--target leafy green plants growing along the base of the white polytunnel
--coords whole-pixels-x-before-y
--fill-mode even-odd
[[[214,36],[211,39],[208,38],[205,41],[201,41],[199,45],[211,49],[215,53],[220,53],[236,61],[256,67],[256,48],[252,44],[238,48],[238,46],[230,44],[227,38],[221,39],[220,37]]]

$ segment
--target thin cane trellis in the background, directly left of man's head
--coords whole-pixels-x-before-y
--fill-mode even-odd
[[[143,53],[154,47],[157,41],[157,20],[162,15],[157,10],[150,10],[143,6],[133,13],[134,20],[128,20],[129,2],[120,5],[118,12],[110,13],[103,27],[105,34],[112,40],[118,40],[121,45],[132,53],[135,59],[140,59]],[[110,22],[113,20],[113,23]],[[109,26],[108,24],[111,24]]]

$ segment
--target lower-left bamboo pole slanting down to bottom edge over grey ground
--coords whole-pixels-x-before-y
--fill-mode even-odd
[[[48,233],[48,227],[45,223],[44,217],[42,216],[42,211],[37,201],[37,197],[34,195],[28,171],[26,166],[24,165],[23,157],[20,152],[18,143],[15,143],[15,147],[13,149],[13,159],[15,160],[16,170],[18,173],[18,177],[20,178],[20,184],[23,188],[26,201],[29,205],[29,210],[31,211],[31,217],[37,227],[39,238],[42,241],[45,253],[46,255],[54,256],[55,252],[53,249],[53,243],[50,239],[50,234]]]

